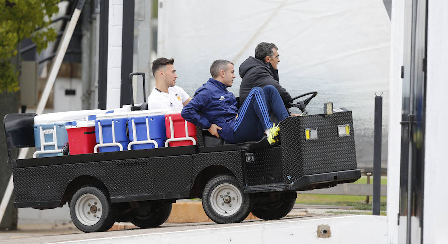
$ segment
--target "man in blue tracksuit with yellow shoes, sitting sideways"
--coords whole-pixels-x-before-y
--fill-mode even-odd
[[[257,141],[266,133],[268,142],[275,144],[280,128],[271,122],[269,112],[273,111],[279,121],[289,116],[277,89],[254,87],[238,110],[235,96],[227,91],[236,78],[233,63],[216,60],[210,74],[212,78],[182,109],[182,117],[230,143]]]

